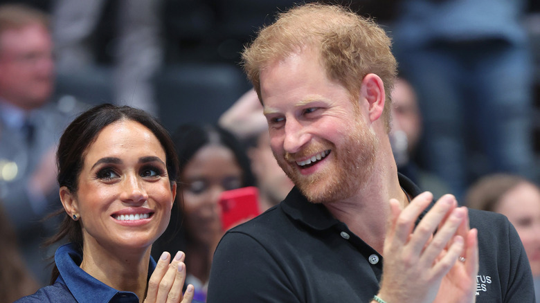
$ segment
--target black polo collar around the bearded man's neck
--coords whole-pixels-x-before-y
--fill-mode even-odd
[[[401,185],[402,189],[411,196],[411,199],[422,193],[422,190],[406,176],[399,174],[398,172],[397,177],[399,185]],[[433,205],[433,203],[431,205]],[[420,214],[416,223],[420,222],[424,217],[424,214],[431,208],[431,205]],[[293,187],[280,206],[285,214],[291,217],[291,219],[300,221],[314,230],[326,230],[341,223],[339,220],[332,217],[332,214],[330,214],[322,203],[309,202],[296,186]]]

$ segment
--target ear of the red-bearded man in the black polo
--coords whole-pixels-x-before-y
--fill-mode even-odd
[[[366,77],[363,77],[360,97],[368,102],[370,121],[374,122],[379,119],[384,110],[386,93],[384,92],[384,84],[378,75],[368,73]]]

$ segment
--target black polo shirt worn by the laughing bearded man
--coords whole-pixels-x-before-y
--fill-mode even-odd
[[[411,196],[420,194],[399,176]],[[469,210],[478,228],[476,302],[534,302],[532,275],[514,227]],[[214,255],[208,302],[370,302],[383,258],[324,205],[296,189],[259,217],[226,232]],[[395,302],[390,302],[395,303]]]

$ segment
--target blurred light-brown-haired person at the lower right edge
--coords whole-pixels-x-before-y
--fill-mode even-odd
[[[492,174],[480,178],[465,196],[469,208],[504,214],[516,228],[534,277],[540,302],[540,188],[526,178]]]

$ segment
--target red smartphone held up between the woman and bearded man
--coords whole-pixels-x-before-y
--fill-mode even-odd
[[[219,198],[222,230],[257,217],[260,214],[258,199],[259,190],[253,186],[222,192]]]

